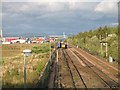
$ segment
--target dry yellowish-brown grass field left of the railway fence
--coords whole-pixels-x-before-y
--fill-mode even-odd
[[[11,44],[2,46],[3,66],[2,78],[3,87],[24,87],[23,54],[24,49],[32,49],[40,44]],[[32,54],[26,58],[27,87],[33,87],[39,77],[36,73],[38,63],[48,61],[50,53]],[[44,66],[44,65],[43,65]]]

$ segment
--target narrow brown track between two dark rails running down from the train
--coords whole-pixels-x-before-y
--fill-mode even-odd
[[[73,83],[74,87],[75,88],[86,88],[86,90],[87,90],[87,86],[85,85],[85,82],[84,82],[79,70],[77,69],[76,65],[74,64],[73,60],[70,58],[70,56],[68,55],[66,50],[63,50],[63,54],[64,54],[64,58],[66,60],[67,66],[70,70],[72,80],[74,81],[74,83]]]

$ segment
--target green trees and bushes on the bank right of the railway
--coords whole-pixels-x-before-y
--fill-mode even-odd
[[[107,57],[106,57],[106,42],[108,43]],[[68,42],[73,45],[87,50],[88,52],[108,59],[109,55],[115,61],[118,61],[118,27],[99,27],[95,30],[80,32],[79,34],[69,37]]]

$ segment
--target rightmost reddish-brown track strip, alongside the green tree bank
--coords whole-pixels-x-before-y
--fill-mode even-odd
[[[107,76],[109,76],[111,79],[118,82],[119,73],[120,73],[118,68],[113,67],[108,62],[101,60],[81,49],[76,49],[76,48],[73,48],[73,49],[74,49],[74,51],[78,52],[80,56],[84,57],[91,64],[94,64],[94,66],[96,66],[102,72],[107,74]]]

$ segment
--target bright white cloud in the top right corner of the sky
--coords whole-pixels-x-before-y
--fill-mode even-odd
[[[116,13],[118,0],[103,0],[95,8],[95,12],[101,13]]]

